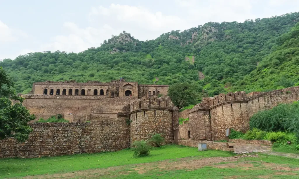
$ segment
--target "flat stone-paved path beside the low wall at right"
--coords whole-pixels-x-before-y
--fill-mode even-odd
[[[248,144],[248,143],[228,143],[234,146],[234,152],[237,154],[245,154],[251,152],[268,152],[271,151],[271,146],[263,144]]]

